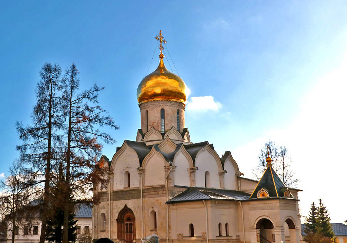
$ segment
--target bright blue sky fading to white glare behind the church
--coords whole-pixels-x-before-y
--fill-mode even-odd
[[[18,157],[15,123],[30,122],[45,62],[75,62],[82,89],[105,87],[100,105],[120,125],[105,155],[135,140],[136,89],[161,29],[191,90],[192,141],[230,150],[249,178],[265,141],[285,144],[302,215],[321,198],[332,223],[347,220],[346,1],[1,1],[0,23],[0,174]]]

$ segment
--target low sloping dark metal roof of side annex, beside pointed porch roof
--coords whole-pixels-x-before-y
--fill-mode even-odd
[[[201,201],[209,199],[221,199],[221,200],[247,200],[249,198],[248,193],[219,189],[219,188],[205,188],[205,187],[189,187],[186,191],[169,199],[167,203],[177,203],[185,201]]]

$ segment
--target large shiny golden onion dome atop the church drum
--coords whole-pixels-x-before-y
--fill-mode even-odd
[[[137,87],[137,101],[142,103],[151,99],[169,99],[185,102],[187,100],[187,86],[176,74],[166,69],[160,56],[160,63],[153,73],[144,77]]]

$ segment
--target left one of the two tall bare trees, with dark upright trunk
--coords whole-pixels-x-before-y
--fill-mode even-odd
[[[41,171],[43,181],[43,207],[40,243],[45,241],[47,216],[49,215],[49,198],[51,182],[51,164],[57,157],[58,143],[61,139],[59,129],[64,124],[62,97],[60,91],[61,68],[57,64],[45,63],[40,72],[41,80],[37,83],[36,99],[31,115],[32,125],[24,127],[16,123],[19,138],[24,144],[17,146],[20,159],[33,165],[33,174]],[[40,183],[40,182],[37,182]]]

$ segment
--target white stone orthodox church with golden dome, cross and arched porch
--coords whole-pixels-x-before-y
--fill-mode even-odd
[[[186,84],[167,70],[162,54],[137,89],[141,129],[109,160],[110,180],[92,213],[93,239],[297,243],[303,242],[298,192],[272,168],[255,181],[243,177],[230,151],[221,157],[208,141],[193,143],[185,127]]]

